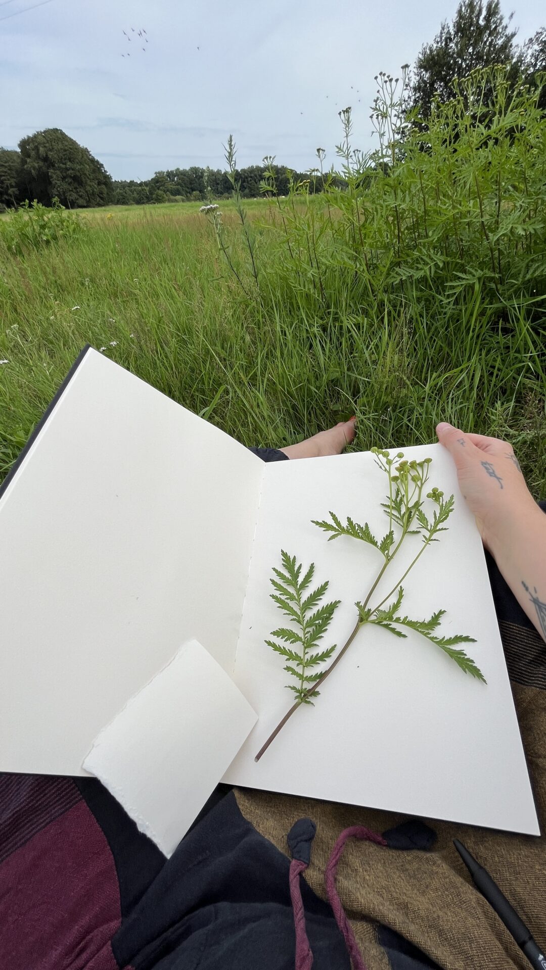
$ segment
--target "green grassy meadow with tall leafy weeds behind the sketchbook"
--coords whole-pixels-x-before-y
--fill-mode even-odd
[[[354,447],[407,446],[448,420],[512,441],[545,498],[546,121],[501,72],[486,117],[484,83],[403,150],[387,92],[373,166],[342,113],[346,187],[320,196],[244,201],[233,164],[209,214],[4,216],[0,475],[88,342],[245,444],[357,414]]]

